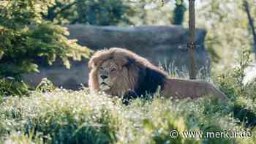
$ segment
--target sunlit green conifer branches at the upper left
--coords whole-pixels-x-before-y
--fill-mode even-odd
[[[67,29],[42,19],[53,1],[14,0],[0,4],[0,76],[20,77],[38,72],[37,58],[52,64],[61,58],[69,68],[69,58],[89,56],[89,49],[67,39]]]

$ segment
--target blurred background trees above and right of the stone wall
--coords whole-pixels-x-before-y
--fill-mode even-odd
[[[165,0],[163,2],[123,0],[113,3],[111,3],[112,1],[101,3],[94,0],[79,1],[80,4],[77,4],[76,0],[56,0],[55,4],[48,9],[44,18],[52,20],[54,23],[67,24],[94,23],[100,26],[139,26],[170,25],[173,23],[188,27],[188,1],[184,0]],[[93,2],[94,4],[92,4]],[[255,5],[252,0],[247,0],[247,2],[249,5]],[[83,7],[86,11],[83,12],[80,9],[79,14],[78,6],[83,4],[85,4]],[[234,55],[242,47],[252,49],[252,30],[249,28],[243,1],[196,0],[195,4],[195,11],[197,12],[195,24],[196,27],[208,31],[206,48],[208,48],[211,61],[214,64],[218,64],[218,67],[220,65],[222,65],[221,67],[230,67],[230,64],[235,61]],[[255,20],[255,7],[249,7],[249,10],[252,20]],[[101,11],[111,15],[102,15],[104,12]],[[91,20],[95,16],[102,17],[102,20],[97,22]],[[80,19],[80,22],[78,22],[78,19]]]

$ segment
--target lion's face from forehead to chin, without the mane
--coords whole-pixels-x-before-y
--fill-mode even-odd
[[[123,69],[113,59],[104,61],[98,69],[99,89],[101,91],[109,91],[117,84],[117,79]],[[118,83],[120,84],[120,83]]]

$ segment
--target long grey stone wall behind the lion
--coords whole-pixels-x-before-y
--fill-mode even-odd
[[[67,26],[69,37],[78,39],[78,43],[92,50],[119,47],[127,48],[146,57],[153,64],[169,64],[176,69],[189,68],[189,54],[187,49],[188,29],[181,26],[88,26],[75,24]],[[197,71],[208,73],[210,58],[204,47],[206,31],[196,30],[196,59]],[[87,59],[72,61],[72,67],[66,69],[59,61],[53,66],[39,66],[37,74],[23,75],[24,81],[37,86],[43,77],[48,77],[56,86],[64,88],[79,88],[87,86],[89,69]],[[203,71],[202,71],[203,69]]]

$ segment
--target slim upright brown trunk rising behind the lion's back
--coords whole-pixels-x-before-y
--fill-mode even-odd
[[[195,63],[195,0],[189,0],[189,58],[190,58],[190,69],[189,78],[196,78],[196,63]]]

